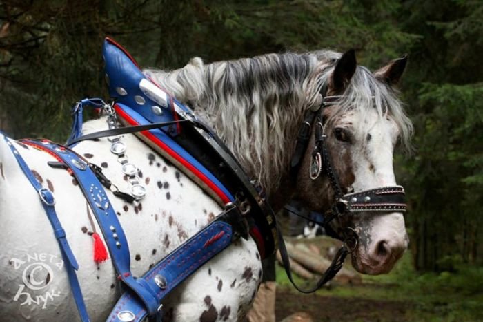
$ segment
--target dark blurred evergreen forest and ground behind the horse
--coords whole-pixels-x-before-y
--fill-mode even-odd
[[[108,97],[106,36],[141,66],[166,69],[195,56],[355,48],[359,64],[375,70],[408,53],[400,90],[415,136],[396,170],[411,249],[388,276],[335,281],[311,296],[279,270],[277,316],[482,321],[482,1],[0,1],[0,129],[63,142],[72,104]],[[324,237],[303,243],[331,247]]]

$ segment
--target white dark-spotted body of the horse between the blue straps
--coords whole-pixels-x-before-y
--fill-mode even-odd
[[[131,135],[126,135],[123,140],[128,146],[126,153],[130,162],[139,169],[137,175],[146,187],[146,197],[132,204],[112,196],[110,192],[108,197],[128,238],[132,273],[139,276],[213,220],[221,209],[176,167],[154,155],[148,146]],[[128,182],[121,173],[117,156],[110,153],[109,146],[108,140],[101,139],[99,142],[83,142],[75,150],[89,162],[102,167],[103,173],[121,191],[126,191]],[[92,211],[77,182],[66,171],[48,167],[47,161],[52,160],[49,155],[32,148],[19,149],[32,164],[43,186],[55,194],[59,219],[81,267],[79,281],[92,321],[105,319],[119,296],[119,290],[110,259],[100,264],[92,260],[90,235],[93,232],[100,234]],[[10,160],[8,163],[14,164]],[[66,272],[56,269],[57,262],[54,263],[56,258],[61,263],[61,254],[43,209],[38,204],[38,196],[35,191],[26,189],[19,198],[19,193],[8,186],[28,185],[22,182],[25,178],[19,170],[12,167],[12,171],[9,169],[9,173],[5,174],[7,180],[0,179],[4,181],[0,184],[0,190],[3,198],[10,200],[4,206],[6,212],[20,212],[22,215],[9,216],[9,220],[14,221],[8,223],[12,229],[8,236],[0,237],[2,245],[8,243],[7,250],[1,251],[4,253],[2,262],[4,259],[7,262],[12,262],[12,258],[18,260],[10,265],[4,263],[3,267],[8,269],[1,273],[4,277],[1,281],[6,281],[5,277],[8,277],[8,282],[1,287],[0,309],[15,316],[14,321],[18,320],[19,312],[26,319],[35,316],[39,321],[77,319]],[[50,271],[44,270],[42,273],[37,270],[26,274],[33,281],[43,278],[42,286],[45,287],[41,290],[24,287],[19,293],[22,272],[30,265],[28,256],[30,259],[37,256],[35,263],[43,263],[39,255],[51,257],[51,263],[44,263],[43,266],[49,267]],[[201,267],[166,298],[164,321],[241,319],[250,307],[261,275],[255,243],[253,240],[239,240]]]

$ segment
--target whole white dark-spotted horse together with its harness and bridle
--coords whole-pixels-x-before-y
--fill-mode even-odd
[[[345,242],[315,288],[348,254],[365,274],[402,256],[406,57],[375,73],[353,50],[141,72],[111,39],[103,54],[113,102],[76,104],[66,146],[0,135],[4,321],[240,321],[261,259],[278,242],[287,260],[273,213],[290,198]]]

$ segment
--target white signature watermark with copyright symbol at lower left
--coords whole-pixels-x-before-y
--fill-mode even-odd
[[[46,253],[27,254],[23,258],[11,258],[10,263],[16,271],[22,272],[22,282],[13,301],[20,305],[41,305],[42,309],[54,301],[61,292],[51,287],[55,274],[63,268],[59,256]]]

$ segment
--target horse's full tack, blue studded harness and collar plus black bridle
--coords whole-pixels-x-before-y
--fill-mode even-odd
[[[107,321],[141,321],[146,316],[153,321],[160,321],[162,316],[160,303],[167,294],[234,240],[240,237],[248,238],[248,234],[257,243],[262,258],[273,254],[278,244],[286,273],[292,281],[283,236],[259,183],[246,176],[236,158],[209,126],[201,122],[190,108],[175,100],[152,79],[146,77],[124,48],[112,39],[106,39],[103,57],[106,61],[106,81],[115,103],[111,106],[98,99],[79,102],[72,113],[74,123],[66,145],[74,146],[83,140],[110,137],[111,151],[118,155],[121,164],[126,165],[128,159],[125,146],[122,146],[119,135],[135,133],[155,151],[176,164],[224,207],[224,211],[213,222],[156,263],[146,274],[140,277],[132,276],[128,242],[104,187],[128,202],[143,198],[144,193],[133,193],[133,189],[130,189],[130,193],[124,193],[117,187],[113,188],[112,183],[101,173],[101,168],[90,164],[67,146],[48,140],[22,140],[23,144],[50,153],[56,159],[55,162],[49,163],[52,167],[67,169],[77,179],[83,195],[97,218],[117,277],[125,289]],[[325,94],[325,91],[322,94]],[[312,135],[311,129],[315,128],[316,144],[312,153],[313,167],[310,175],[313,180],[319,178],[322,173],[328,176],[336,200],[331,211],[324,216],[324,227],[328,231],[331,231],[329,223],[342,216],[360,214],[364,211],[405,211],[406,209],[404,189],[400,186],[345,195],[342,193],[337,173],[333,170],[331,156],[326,148],[323,128],[322,111],[331,102],[335,102],[335,98],[337,97],[324,97],[319,108],[306,113],[291,162],[292,173],[296,175],[299,163],[307,149],[308,139]],[[108,130],[82,135],[82,111],[87,106],[108,111]],[[115,126],[117,120],[126,126],[117,128]],[[64,261],[70,263],[66,268],[81,320],[89,321],[75,274],[79,265],[70,251],[65,232],[55,214],[55,199],[50,191],[42,188],[37,182],[10,140],[6,137],[5,140],[23,173],[26,174],[34,189],[39,192],[42,205],[59,240]],[[131,188],[134,184],[136,182],[132,182]],[[136,191],[139,189],[137,187]],[[342,268],[346,255],[351,252],[347,247],[349,240],[353,238],[357,243],[357,234],[351,231],[350,227],[344,227],[337,232],[333,231],[332,236],[344,240],[344,246],[337,252],[333,263],[315,287],[311,290],[301,290],[294,284],[297,290],[314,292],[333,278]]]

